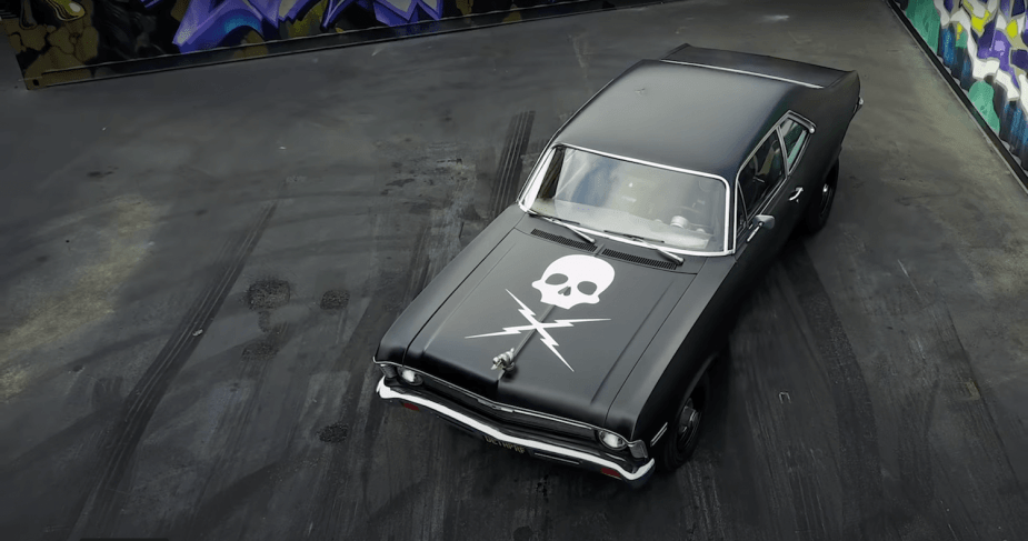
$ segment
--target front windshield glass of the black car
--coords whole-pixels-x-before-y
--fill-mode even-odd
[[[536,174],[528,200],[540,214],[665,248],[725,251],[727,190],[718,179],[568,147]]]

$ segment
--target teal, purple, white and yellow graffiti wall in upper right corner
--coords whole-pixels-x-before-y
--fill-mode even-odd
[[[1026,0],[894,0],[1010,153],[1028,166]]]

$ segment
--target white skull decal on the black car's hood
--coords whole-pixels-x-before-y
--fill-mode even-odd
[[[613,267],[591,256],[565,256],[546,268],[532,287],[542,293],[542,302],[565,310],[578,304],[596,304],[613,282]]]

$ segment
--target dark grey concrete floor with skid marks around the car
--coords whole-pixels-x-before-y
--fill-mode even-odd
[[[509,200],[501,158],[683,41],[856,69],[866,100],[695,461],[630,491],[372,399],[381,334]],[[682,1],[36,92],[7,44],[0,67],[4,539],[1028,539],[1028,196],[882,1]]]

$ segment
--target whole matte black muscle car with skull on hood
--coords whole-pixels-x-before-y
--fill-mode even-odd
[[[633,485],[697,444],[736,309],[828,218],[855,71],[688,44],[608,83],[415,299],[377,392]]]

